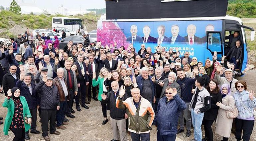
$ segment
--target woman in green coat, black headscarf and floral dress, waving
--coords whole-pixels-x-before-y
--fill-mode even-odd
[[[15,135],[13,141],[24,141],[25,132],[30,129],[32,120],[27,101],[25,97],[20,96],[18,87],[7,90],[3,107],[8,108],[4,122],[4,135],[8,135],[8,131],[11,130]],[[28,118],[28,123],[25,122],[25,117]]]

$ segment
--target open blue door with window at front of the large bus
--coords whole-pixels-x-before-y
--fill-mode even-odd
[[[224,55],[224,48],[222,44],[221,31],[207,31],[206,49],[214,55],[217,52],[217,60],[221,61],[222,55]],[[211,60],[211,58],[209,58]]]

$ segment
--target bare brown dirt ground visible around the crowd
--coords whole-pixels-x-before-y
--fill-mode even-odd
[[[246,72],[244,77],[237,77],[239,80],[245,80],[247,82],[248,90],[256,91],[256,70],[249,70]],[[7,113],[7,108],[2,107],[2,103],[4,102],[4,95],[0,95],[0,117],[5,117]],[[81,112],[77,112],[75,110],[75,118],[68,118],[69,125],[65,125],[67,129],[61,130],[60,135],[53,135],[49,134],[51,141],[110,141],[113,139],[112,129],[110,120],[106,125],[102,125],[103,115],[101,112],[101,106],[99,101],[92,100],[91,104],[88,105],[89,109],[82,108]],[[75,107],[73,107],[75,109]],[[110,119],[109,111],[107,111],[107,117]],[[38,117],[39,120],[39,117]],[[4,121],[4,120],[3,120]],[[4,124],[0,125],[0,140],[1,141],[10,141],[13,139],[14,135],[11,131],[9,131],[9,135],[3,135],[3,126]],[[213,140],[220,141],[222,139],[221,136],[214,133],[216,127],[216,123],[213,123]],[[250,140],[256,140],[256,125],[254,124],[253,132],[251,135]],[[29,134],[30,141],[44,141],[42,137],[42,130],[41,130],[41,123],[37,122],[37,130],[41,132],[41,134]],[[203,131],[203,128],[202,128]],[[150,140],[156,141],[156,126],[152,125],[152,130],[150,132]],[[203,132],[204,135],[204,132]],[[128,141],[131,141],[131,137],[127,134]],[[190,141],[193,139],[193,130],[192,136],[186,137],[185,132],[178,134],[176,141]],[[229,138],[230,141],[235,141],[234,134],[231,133]]]

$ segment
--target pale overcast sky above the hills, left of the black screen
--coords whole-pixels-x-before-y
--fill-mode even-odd
[[[63,5],[68,9],[101,9],[105,8],[105,0],[16,0],[18,3],[31,4],[39,7],[40,9],[47,9],[53,11],[55,8],[59,8]],[[0,5],[9,7],[12,0],[1,0]]]

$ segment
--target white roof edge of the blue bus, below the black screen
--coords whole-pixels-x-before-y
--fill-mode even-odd
[[[117,19],[117,20],[102,20],[103,22],[147,22],[147,21],[196,21],[196,20],[234,20],[242,24],[242,20],[233,16],[219,17],[190,17],[190,18],[159,18],[159,19]]]

